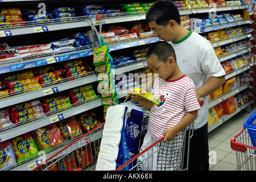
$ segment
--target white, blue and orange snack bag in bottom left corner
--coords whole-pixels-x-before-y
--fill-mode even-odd
[[[16,166],[16,159],[11,140],[0,142],[0,171]]]

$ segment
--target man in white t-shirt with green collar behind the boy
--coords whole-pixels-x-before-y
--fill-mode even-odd
[[[181,72],[193,80],[197,99],[204,101],[194,122],[188,170],[208,171],[208,96],[225,83],[225,71],[208,40],[181,25],[179,10],[172,1],[156,1],[146,20],[156,37],[174,47]]]

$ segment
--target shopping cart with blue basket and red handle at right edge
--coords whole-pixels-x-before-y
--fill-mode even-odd
[[[238,171],[256,170],[255,121],[256,111],[249,115],[243,129],[230,141],[231,148],[236,151]]]

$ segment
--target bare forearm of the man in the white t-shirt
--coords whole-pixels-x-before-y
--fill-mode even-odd
[[[220,88],[225,83],[225,76],[222,77],[210,77],[207,82],[200,88],[196,89],[196,98],[199,100],[202,97],[209,96],[215,90]]]

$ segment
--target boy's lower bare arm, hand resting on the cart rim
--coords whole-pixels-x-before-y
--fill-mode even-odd
[[[189,126],[193,121],[195,121],[196,117],[197,110],[185,114],[184,117],[180,120],[180,122],[177,123],[177,125],[170,127],[169,129],[164,131],[164,142],[174,139],[175,135],[179,133],[181,130],[185,129],[187,126]]]

